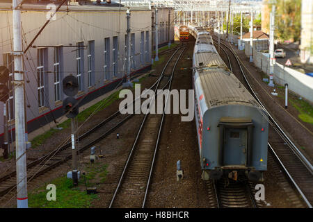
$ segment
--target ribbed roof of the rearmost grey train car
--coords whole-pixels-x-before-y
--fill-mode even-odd
[[[221,68],[202,69],[196,78],[200,78],[207,108],[218,105],[240,104],[256,106],[257,102],[240,81],[229,71]],[[198,79],[196,79],[197,81]]]

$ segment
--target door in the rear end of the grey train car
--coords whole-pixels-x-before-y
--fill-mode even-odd
[[[223,151],[224,166],[246,166],[247,144],[247,128],[225,128]]]

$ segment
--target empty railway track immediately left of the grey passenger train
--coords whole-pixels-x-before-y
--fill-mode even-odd
[[[170,89],[175,67],[185,49],[186,47],[177,49],[170,60],[168,60],[162,71],[159,83],[154,90],[154,94],[157,93],[157,89],[164,89],[165,87]],[[168,94],[166,98],[168,98],[167,96]],[[162,106],[162,115],[150,114],[150,108],[145,113],[109,208],[145,207],[145,200],[147,198],[166,110],[164,105]]]

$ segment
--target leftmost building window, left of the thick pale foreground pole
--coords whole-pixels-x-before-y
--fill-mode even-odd
[[[14,110],[14,85],[13,85],[13,70],[14,70],[14,59],[10,53],[3,54],[3,65],[8,68],[9,71],[9,99],[8,99],[8,121],[15,118]]]

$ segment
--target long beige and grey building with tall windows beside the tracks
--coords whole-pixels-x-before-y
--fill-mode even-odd
[[[59,1],[58,1],[59,2]],[[56,2],[56,6],[58,5]],[[81,5],[79,5],[79,3]],[[26,117],[28,132],[63,115],[62,80],[67,75],[79,79],[81,105],[121,85],[126,67],[126,10],[118,3],[79,1],[62,6],[24,54]],[[49,17],[49,1],[22,5],[23,47],[29,45]],[[12,2],[0,3],[0,65],[5,65],[13,80]],[[151,68],[154,9],[131,7],[131,73]],[[159,46],[174,41],[174,11],[159,9]],[[8,126],[15,128],[13,85],[8,100]],[[3,103],[0,102],[0,117]],[[0,142],[3,118],[0,118]]]

